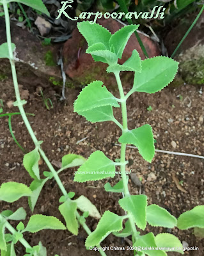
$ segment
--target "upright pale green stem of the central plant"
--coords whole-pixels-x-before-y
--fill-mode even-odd
[[[114,76],[116,77],[116,81],[117,81],[117,84],[118,84],[118,90],[120,92],[120,97],[122,99],[121,106],[122,106],[122,117],[123,117],[123,133],[124,133],[124,132],[128,131],[126,100],[125,100],[125,95],[124,95],[124,92],[123,92],[123,86],[122,86],[122,83],[121,83],[121,80],[120,80],[120,72],[115,72]],[[121,163],[125,163],[125,161],[126,161],[125,154],[126,154],[126,144],[122,143],[121,150],[120,150],[120,162]],[[129,188],[128,188],[128,184],[127,184],[127,175],[126,175],[126,172],[125,172],[125,166],[126,166],[126,164],[122,164],[120,166],[120,170],[121,170],[121,173],[122,173],[124,195],[125,195],[125,197],[128,197],[128,196],[130,196],[130,192],[129,192]],[[128,212],[128,214],[129,214],[130,225],[131,225],[131,228],[132,228],[132,234],[134,236],[134,241],[132,241],[133,244],[134,244],[135,241],[136,241],[136,238],[137,238],[137,230],[136,230],[136,225],[134,223],[134,218],[133,218],[132,214],[130,214],[130,212]]]

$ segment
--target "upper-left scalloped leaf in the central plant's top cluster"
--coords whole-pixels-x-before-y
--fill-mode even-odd
[[[109,49],[109,39],[111,38],[111,33],[106,28],[97,23],[90,24],[88,20],[78,22],[77,28],[88,42],[88,46],[96,43],[102,43],[107,49]]]

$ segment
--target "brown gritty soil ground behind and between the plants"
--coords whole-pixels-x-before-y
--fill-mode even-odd
[[[128,87],[127,91],[130,89]],[[4,113],[18,111],[14,107],[8,108],[6,104],[10,100],[15,100],[12,81],[10,79],[1,81],[0,89],[0,99],[3,99],[4,102]],[[42,148],[50,161],[60,162],[61,157],[68,153],[88,157],[95,150],[102,150],[111,159],[120,157],[120,147],[114,145],[120,137],[120,130],[116,125],[110,122],[91,124],[73,113],[73,102],[77,98],[79,90],[68,89],[67,100],[59,102],[59,88],[47,88],[43,94],[46,98],[50,97],[54,105],[54,108],[48,111],[43,104],[42,97],[36,92],[36,88],[29,88],[24,84],[22,89],[28,89],[26,113],[35,114],[35,116],[29,116],[29,121],[38,140],[43,140]],[[114,95],[118,96],[116,92]],[[162,92],[153,95],[135,93],[127,103],[129,129],[146,123],[152,125],[157,141],[156,148],[204,155],[204,93],[201,88],[184,85],[179,88],[164,88]],[[152,111],[147,110],[148,106],[152,106]],[[118,116],[118,120],[121,121],[120,109],[115,110],[115,116]],[[0,184],[12,180],[29,186],[32,180],[22,165],[24,154],[12,140],[8,129],[8,118],[0,118],[0,125]],[[27,152],[33,150],[33,143],[20,116],[12,117],[12,127],[20,145],[26,148]],[[83,138],[86,140],[77,143]],[[202,159],[157,153],[152,164],[149,164],[143,160],[136,149],[128,148],[127,160],[129,160],[128,170],[132,169],[132,173],[143,179],[140,191],[139,187],[131,179],[129,180],[129,189],[132,195],[145,193],[148,196],[148,204],[159,204],[177,218],[182,212],[192,209],[196,205],[204,204],[204,162]],[[45,164],[40,165],[40,170],[41,173],[47,171]],[[73,181],[76,170],[76,168],[70,168],[60,174],[67,191],[74,191],[75,198],[80,195],[87,196],[97,206],[101,214],[106,210],[124,214],[118,205],[118,200],[122,195],[104,191],[104,183],[115,184],[119,179],[118,176],[114,179],[81,184]],[[43,174],[41,175],[43,177]],[[182,183],[182,190],[185,189],[186,193],[177,188],[173,177]],[[63,221],[58,211],[60,196],[61,191],[56,182],[54,180],[47,182],[34,213],[56,216]],[[22,206],[27,211],[27,221],[31,216],[31,211],[27,206],[26,198],[13,204],[4,202],[0,204],[1,211],[5,209],[15,211]],[[88,217],[87,224],[91,230],[95,228],[96,223],[97,220]],[[16,223],[12,222],[12,225],[15,227]],[[167,230],[166,228],[148,226],[146,232],[149,231],[153,231],[155,235],[159,232],[171,232],[178,236],[180,241],[188,243],[189,246],[200,248],[199,251],[185,252],[184,255],[203,255],[203,239],[196,238],[192,229],[180,231],[178,228]],[[43,245],[47,247],[47,255],[99,255],[99,253],[88,251],[84,247],[86,233],[82,228],[79,230],[79,236],[72,236],[67,230],[43,230],[36,234],[26,233],[24,237],[32,246],[38,244],[38,241],[42,241]],[[129,244],[124,239],[110,235],[104,240],[102,246],[129,246]],[[16,244],[16,249],[17,255],[24,255],[24,248],[20,243]],[[120,256],[133,255],[133,253],[107,251],[107,255]],[[178,255],[178,253],[168,253],[168,255]]]

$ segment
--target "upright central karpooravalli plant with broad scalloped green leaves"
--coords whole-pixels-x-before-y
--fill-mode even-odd
[[[128,163],[125,156],[127,144],[136,146],[139,149],[139,154],[149,163],[152,162],[155,154],[152,127],[149,124],[132,130],[128,128],[127,99],[134,92],[156,93],[168,86],[177,74],[178,62],[165,56],[141,61],[138,52],[133,50],[132,56],[123,65],[120,65],[118,59],[122,58],[123,50],[132,33],[138,28],[137,25],[125,26],[113,35],[99,24],[90,24],[88,21],[79,22],[77,27],[88,43],[86,53],[91,54],[95,61],[107,63],[107,72],[114,74],[120,99],[114,97],[102,81],[93,81],[82,89],[75,100],[74,111],[93,123],[112,121],[122,130],[122,135],[119,138],[121,143],[119,162],[112,161],[102,151],[97,150],[79,167],[74,180],[86,182],[113,178],[116,166],[120,166],[120,181],[113,187],[107,182],[104,189],[112,193],[123,193],[119,204],[125,211],[123,216],[105,211],[97,228],[86,239],[85,245],[88,248],[93,248],[113,233],[118,237],[132,236],[133,245],[129,246],[127,250],[133,250],[135,255],[137,253],[137,255],[163,256],[168,251],[184,254],[182,243],[172,234],[162,233],[154,236],[152,232],[149,232],[141,236],[136,227],[145,230],[148,223],[153,227],[203,228],[204,206],[200,205],[191,211],[184,212],[177,221],[173,215],[159,205],[148,205],[146,195],[130,195],[129,179],[125,170]],[[134,72],[132,89],[126,95],[123,92],[120,79],[122,71]],[[122,109],[122,124],[114,117],[113,108]],[[195,216],[196,218],[194,218]],[[123,228],[123,220],[126,220],[125,228]],[[150,250],[150,248],[160,249],[155,252],[156,249]]]

